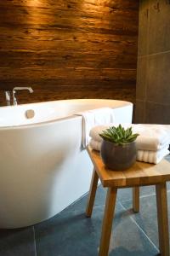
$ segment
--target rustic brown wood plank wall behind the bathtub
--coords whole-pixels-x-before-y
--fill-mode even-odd
[[[0,0],[0,105],[71,98],[135,101],[138,0]]]

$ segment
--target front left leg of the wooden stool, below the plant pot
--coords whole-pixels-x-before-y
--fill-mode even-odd
[[[99,256],[107,256],[109,251],[111,228],[116,205],[117,189],[108,188],[105,202],[105,215],[103,219],[102,233],[99,245]]]

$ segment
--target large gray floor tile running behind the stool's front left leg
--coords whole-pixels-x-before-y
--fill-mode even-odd
[[[98,189],[92,218],[85,217],[86,203],[87,196],[54,218],[35,226],[37,256],[98,255],[104,214],[104,189],[100,187]],[[109,255],[149,256],[156,253],[156,248],[133,223],[129,212],[125,211],[117,201]]]

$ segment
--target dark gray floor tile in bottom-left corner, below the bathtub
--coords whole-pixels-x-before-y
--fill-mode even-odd
[[[0,230],[1,256],[36,256],[33,227]]]

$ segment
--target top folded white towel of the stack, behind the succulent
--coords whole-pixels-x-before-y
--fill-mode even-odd
[[[89,135],[95,141],[101,142],[102,138],[99,136],[99,133],[113,125],[118,126],[119,124],[98,125],[90,131]],[[133,132],[139,133],[139,137],[136,139],[138,149],[156,151],[166,148],[170,144],[170,128],[167,125],[122,124],[122,126],[125,129],[132,126]]]

